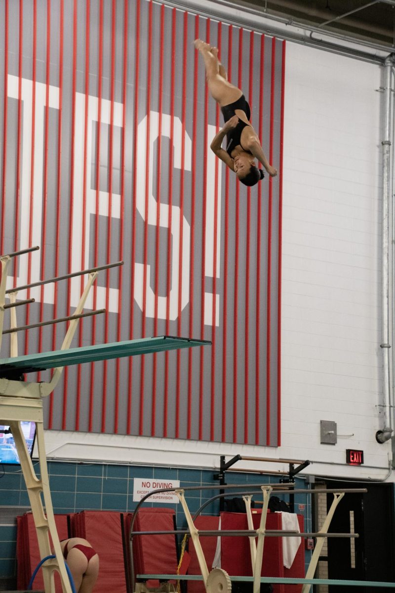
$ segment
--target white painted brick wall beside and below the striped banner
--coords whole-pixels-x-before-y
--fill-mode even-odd
[[[220,455],[239,453],[314,461],[303,473],[387,476],[390,444],[375,441],[381,75],[376,65],[287,44],[281,447],[49,431],[49,458],[218,467]],[[336,445],[320,445],[320,420],[337,423]],[[363,449],[365,466],[346,466],[346,448]],[[236,467],[287,469],[243,461]]]

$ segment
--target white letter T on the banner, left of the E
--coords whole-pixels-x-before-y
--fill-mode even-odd
[[[18,99],[18,76],[8,74],[8,97]],[[21,80],[21,101],[23,130],[21,133],[21,171],[20,171],[20,243],[18,249],[25,249],[41,244],[41,227],[43,218],[43,154],[44,154],[44,116],[46,104],[46,85],[36,82],[36,109],[34,113],[34,180],[33,203],[30,203],[31,174],[31,126],[33,123],[33,81]],[[49,87],[49,107],[59,109],[59,88]],[[30,218],[33,218],[31,244],[29,244]],[[26,284],[28,278],[28,257],[18,259],[17,285]],[[41,279],[40,251],[31,253],[30,282]],[[7,288],[14,286],[14,279],[9,277]],[[19,299],[26,297],[27,291],[18,293]],[[30,297],[41,300],[41,287],[33,288]],[[44,286],[44,302],[53,303],[53,285]]]

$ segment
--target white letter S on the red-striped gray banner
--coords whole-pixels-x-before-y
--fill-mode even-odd
[[[170,138],[171,116],[167,114],[162,115],[162,129],[160,133],[162,136]],[[137,132],[137,187],[136,187],[136,203],[137,210],[145,221],[145,171],[146,171],[146,141],[147,141],[147,116],[139,123]],[[153,172],[153,145],[159,136],[159,113],[150,111],[150,135],[149,135],[149,186],[148,186],[148,221],[147,223],[156,226],[156,209],[158,202],[152,193],[152,172]],[[174,167],[181,168],[181,145],[182,145],[182,124],[178,117],[174,117]],[[186,171],[191,170],[191,139],[185,132],[184,141],[184,168]],[[166,319],[166,304],[167,299],[170,299],[169,317],[174,321],[178,317],[178,263],[180,257],[180,237],[179,237],[179,206],[172,206],[172,276],[171,276],[171,291],[169,297],[158,296],[158,318]],[[168,228],[169,205],[160,203],[159,225],[163,228]],[[181,287],[181,310],[186,307],[189,302],[189,282],[190,282],[190,225],[183,216],[182,220],[182,287]],[[147,317],[155,317],[155,293],[150,287],[150,265],[147,264],[147,282],[146,282],[146,315]],[[143,310],[143,280],[144,280],[144,264],[135,263],[135,285],[134,298],[140,309]]]

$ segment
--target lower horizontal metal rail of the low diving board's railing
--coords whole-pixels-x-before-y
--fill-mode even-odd
[[[234,535],[246,535],[247,537],[256,536],[258,537],[258,533],[256,530],[251,529],[239,529],[239,530],[218,530],[218,529],[203,529],[198,530],[199,535],[221,535],[221,537],[232,537]],[[189,530],[179,529],[174,531],[131,531],[130,535],[191,535]],[[320,531],[316,531],[314,533],[306,533],[306,532],[299,532],[299,531],[282,531],[276,529],[268,529],[265,531],[265,536],[268,535],[269,537],[348,537],[348,538],[357,538],[359,537],[358,533],[321,533]]]

